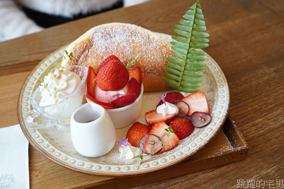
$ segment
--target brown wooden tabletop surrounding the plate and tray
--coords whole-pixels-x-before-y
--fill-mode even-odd
[[[17,99],[21,86],[33,67],[52,51],[93,26],[110,22],[133,23],[174,35],[174,25],[194,3],[195,0],[153,0],[1,42],[0,127],[18,123]],[[161,181],[137,188],[236,188],[242,179],[261,179],[266,183],[271,180],[274,187],[280,184],[281,188],[284,179],[284,1],[200,0],[200,4],[210,34],[209,47],[204,50],[227,76],[231,92],[229,112],[248,142],[248,156],[242,161],[166,180],[159,174]],[[31,188],[78,187],[96,182],[97,178],[65,169],[32,146],[29,168]]]

